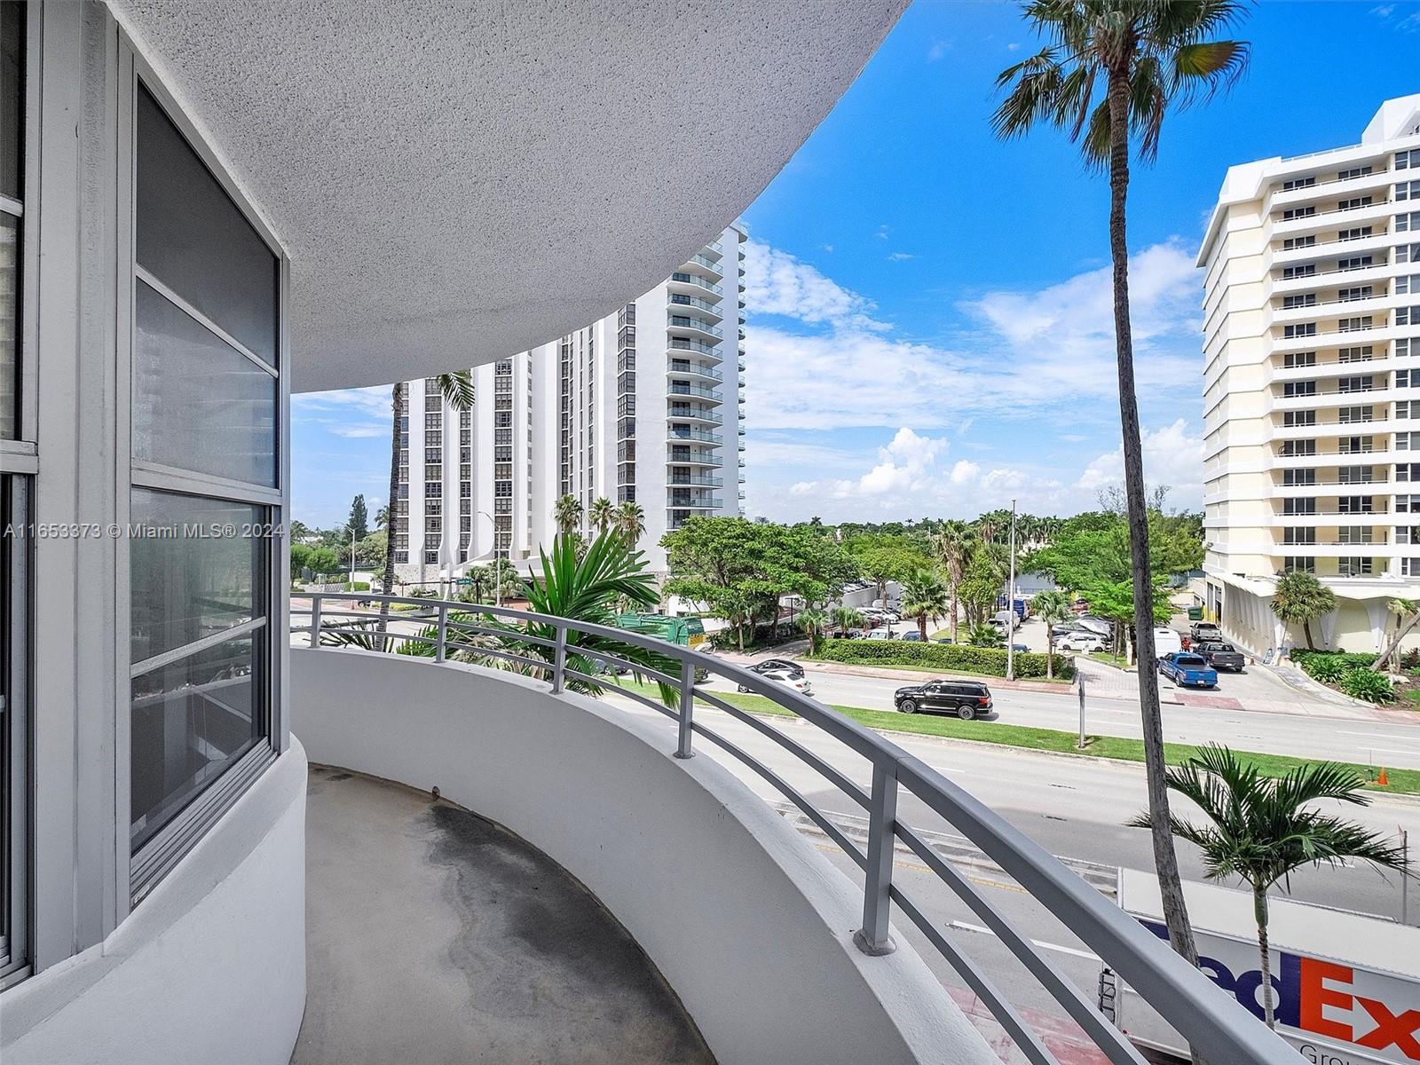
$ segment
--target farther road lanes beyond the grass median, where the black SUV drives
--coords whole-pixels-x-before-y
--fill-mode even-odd
[[[892,694],[897,687],[930,677],[927,673],[906,672],[902,679],[865,677],[831,673],[808,663],[805,672],[819,701],[868,710],[892,710]],[[1277,686],[1284,682],[1267,677],[1260,683]],[[714,680],[710,687],[733,686]],[[1078,728],[1079,700],[1071,690],[1056,694],[995,687],[991,694],[1003,723],[1064,731]],[[1248,751],[1420,768],[1420,714],[1416,714],[1414,726],[1406,726],[1166,703],[1163,721],[1164,738],[1176,743],[1217,741]],[[1139,738],[1143,734],[1139,704],[1129,697],[1091,694],[1086,687],[1085,730],[1092,736]]]

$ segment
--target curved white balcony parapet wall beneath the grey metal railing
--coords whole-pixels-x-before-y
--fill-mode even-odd
[[[861,895],[674,733],[510,673],[291,652],[293,730],[318,763],[501,822],[582,880],[680,995],[721,1065],[997,1059],[920,957],[852,943]]]

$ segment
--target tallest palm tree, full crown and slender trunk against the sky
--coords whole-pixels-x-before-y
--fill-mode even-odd
[[[1113,263],[1115,359],[1119,376],[1119,420],[1123,429],[1125,491],[1133,547],[1135,629],[1145,662],[1154,659],[1153,581],[1149,562],[1149,514],[1145,497],[1139,400],[1135,393],[1133,338],[1129,325],[1129,195],[1130,135],[1139,155],[1152,160],[1163,118],[1173,104],[1217,92],[1247,65],[1248,45],[1216,40],[1242,11],[1242,0],[1031,0],[1027,21],[1048,44],[1004,70],[998,88],[1010,88],[993,125],[1003,138],[1021,136],[1037,125],[1069,132],[1086,163],[1109,172],[1109,256]],[[1099,82],[1103,98],[1096,99]],[[1169,834],[1169,790],[1164,781],[1163,719],[1159,677],[1139,670],[1145,767],[1149,808],[1156,815],[1154,865],[1164,923],[1173,949],[1197,964],[1189,927],[1183,882]]]

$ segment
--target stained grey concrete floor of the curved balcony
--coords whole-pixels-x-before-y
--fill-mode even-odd
[[[520,836],[311,767],[307,1003],[293,1065],[713,1062],[618,920]]]

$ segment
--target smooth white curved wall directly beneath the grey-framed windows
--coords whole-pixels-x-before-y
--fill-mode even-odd
[[[102,943],[6,991],[6,1065],[285,1065],[305,1011],[305,751]]]

